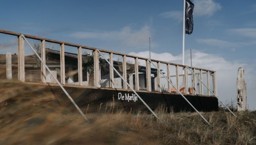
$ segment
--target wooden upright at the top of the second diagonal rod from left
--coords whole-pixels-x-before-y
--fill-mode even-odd
[[[100,65],[98,52],[94,51],[94,85],[100,87]]]

